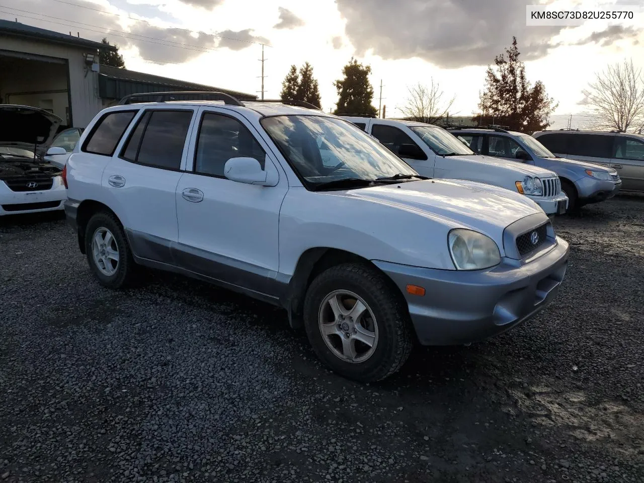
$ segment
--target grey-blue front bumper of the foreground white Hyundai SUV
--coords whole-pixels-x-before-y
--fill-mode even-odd
[[[556,238],[527,263],[504,259],[488,270],[437,270],[374,261],[406,298],[422,345],[455,345],[496,336],[533,317],[556,296],[564,279],[568,243]],[[424,296],[408,294],[419,285]]]

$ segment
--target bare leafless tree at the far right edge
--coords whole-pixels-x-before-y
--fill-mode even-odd
[[[632,59],[597,73],[582,92],[582,104],[594,111],[594,127],[625,133],[644,125],[644,77]]]

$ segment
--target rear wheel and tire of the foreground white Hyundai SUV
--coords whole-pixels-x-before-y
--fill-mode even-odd
[[[94,245],[97,235],[105,242],[100,243],[102,246],[98,242]],[[99,211],[91,216],[85,229],[85,253],[92,272],[104,287],[121,289],[133,281],[135,261],[123,227],[113,214]]]

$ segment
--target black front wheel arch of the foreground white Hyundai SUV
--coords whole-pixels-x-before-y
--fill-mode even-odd
[[[390,281],[390,285],[393,287],[395,293],[404,299],[403,293],[400,291],[398,286],[393,283],[393,280],[384,273],[383,270],[374,265],[372,261],[345,250],[328,247],[314,247],[308,249],[299,256],[295,272],[289,281],[287,298],[284,305],[289,314],[290,327],[299,329],[304,325],[304,298],[311,282],[324,270],[340,265],[341,263],[362,263],[364,265],[368,265],[374,270],[377,270],[377,272],[383,274],[385,278]]]

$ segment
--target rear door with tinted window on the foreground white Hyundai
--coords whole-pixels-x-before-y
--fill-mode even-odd
[[[185,167],[193,117],[194,109],[186,106],[143,109],[103,172],[109,206],[142,258],[173,263],[171,245],[178,240],[176,185]]]

